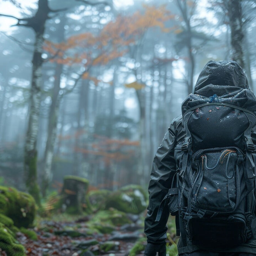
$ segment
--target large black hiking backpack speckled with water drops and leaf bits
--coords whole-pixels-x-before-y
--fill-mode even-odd
[[[182,103],[183,154],[165,199],[176,215],[177,235],[182,219],[188,244],[216,251],[252,237],[255,110],[247,89],[232,97],[190,94]]]

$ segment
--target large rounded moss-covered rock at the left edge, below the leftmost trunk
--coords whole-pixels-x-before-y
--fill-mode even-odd
[[[28,193],[0,186],[0,213],[17,227],[29,227],[35,218],[35,200]]]

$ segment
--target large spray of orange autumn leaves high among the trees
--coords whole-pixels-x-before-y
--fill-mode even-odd
[[[136,44],[149,28],[159,27],[164,33],[169,32],[170,28],[165,27],[165,22],[173,18],[174,15],[166,10],[165,5],[158,8],[144,5],[144,13],[137,11],[130,16],[120,15],[106,24],[98,35],[82,33],[59,44],[46,41],[44,50],[54,56],[50,60],[52,62],[80,64],[84,67],[104,65],[123,56],[127,52],[127,46]],[[91,79],[87,73],[83,78]]]

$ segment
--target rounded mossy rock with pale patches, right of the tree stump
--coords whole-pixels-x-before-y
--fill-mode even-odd
[[[113,207],[119,211],[140,214],[147,207],[147,196],[139,185],[128,185],[112,192],[106,199],[106,208]]]

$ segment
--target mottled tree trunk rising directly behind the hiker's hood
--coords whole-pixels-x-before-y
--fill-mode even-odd
[[[242,11],[240,0],[228,0],[228,15],[231,29],[232,59],[244,68]]]

